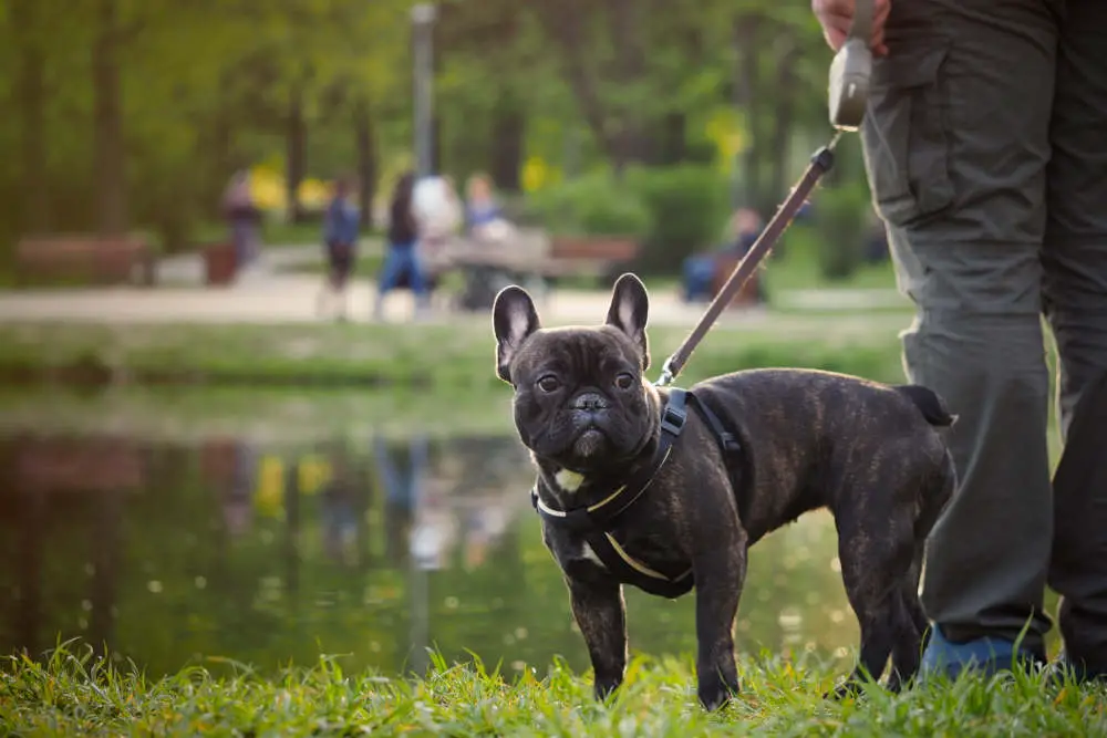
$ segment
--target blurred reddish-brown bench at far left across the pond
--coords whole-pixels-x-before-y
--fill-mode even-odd
[[[157,281],[154,250],[144,239],[131,236],[28,236],[15,246],[14,267],[21,284],[72,279],[149,287]]]

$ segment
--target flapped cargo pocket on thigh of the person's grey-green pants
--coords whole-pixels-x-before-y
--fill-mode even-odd
[[[948,53],[941,41],[873,60],[860,135],[873,204],[893,226],[910,226],[953,202],[942,79]]]

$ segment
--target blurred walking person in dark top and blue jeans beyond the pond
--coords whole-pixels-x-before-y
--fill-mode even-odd
[[[404,173],[396,181],[389,207],[387,252],[376,291],[373,318],[384,318],[384,298],[406,279],[415,295],[415,315],[425,313],[430,302],[423,267],[416,248],[420,239],[418,221],[414,207],[415,174]]]

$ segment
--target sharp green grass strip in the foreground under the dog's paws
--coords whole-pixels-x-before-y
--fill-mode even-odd
[[[435,658],[418,679],[346,674],[341,657],[273,677],[211,659],[165,678],[66,647],[0,671],[0,730],[12,736],[1086,736],[1107,732],[1107,693],[1044,674],[969,677],[841,703],[818,663],[739,662],[743,690],[704,713],[685,658],[637,657],[608,704],[555,662],[507,679],[478,661]],[[219,674],[221,672],[223,674]],[[229,673],[228,673],[229,672]]]

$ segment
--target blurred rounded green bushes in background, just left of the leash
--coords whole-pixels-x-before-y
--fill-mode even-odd
[[[690,253],[724,235],[726,180],[714,169],[682,165],[579,177],[530,197],[530,211],[554,233],[632,236],[644,273],[673,273]]]

